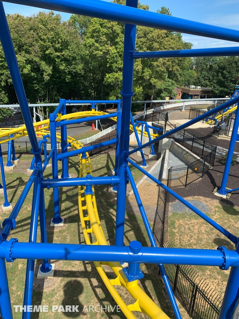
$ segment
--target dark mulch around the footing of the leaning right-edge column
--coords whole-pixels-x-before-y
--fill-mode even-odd
[[[221,185],[224,168],[225,165],[222,165],[220,163],[220,156],[216,156],[214,167],[212,167],[203,176],[203,178],[187,185],[186,187],[173,188],[173,191],[184,198],[189,196],[203,196],[207,198],[220,199],[220,197],[216,197],[214,194],[212,194],[212,192],[217,185]],[[234,189],[238,188],[238,185],[239,163],[236,163],[235,166],[231,166],[230,168],[227,187],[230,189]],[[171,196],[170,201],[173,202],[174,200],[176,199]],[[222,198],[220,201],[231,206],[239,206],[239,191],[233,193],[229,200]]]

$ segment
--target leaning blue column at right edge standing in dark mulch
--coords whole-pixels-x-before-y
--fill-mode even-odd
[[[234,152],[234,148],[235,148],[235,143],[236,143],[236,139],[237,139],[238,127],[239,127],[239,112],[236,112],[235,120],[234,120],[234,124],[233,124],[233,129],[232,129],[232,136],[231,136],[229,149],[228,149],[227,160],[226,160],[224,173],[223,173],[222,181],[221,181],[221,188],[217,191],[217,193],[220,195],[227,195],[227,193],[228,193],[228,191],[226,190],[226,186],[227,186],[232,156],[233,156],[233,152]]]

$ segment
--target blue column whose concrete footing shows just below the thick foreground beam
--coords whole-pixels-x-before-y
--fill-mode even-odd
[[[47,243],[47,224],[46,224],[46,210],[45,210],[45,197],[44,189],[40,189],[40,203],[39,203],[39,219],[40,219],[40,231],[41,231],[41,242]],[[48,272],[52,270],[52,265],[48,259],[43,259],[40,267],[41,272]]]

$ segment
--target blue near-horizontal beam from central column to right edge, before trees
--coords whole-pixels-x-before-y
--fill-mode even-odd
[[[190,50],[169,50],[152,52],[134,52],[134,59],[142,58],[179,58],[196,56],[239,56],[239,47],[229,48],[208,48]]]

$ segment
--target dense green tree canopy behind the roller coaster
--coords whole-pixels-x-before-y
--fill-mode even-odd
[[[113,2],[125,5],[124,0]],[[139,8],[149,10],[140,3]],[[171,15],[166,7],[157,13]],[[120,98],[123,23],[77,15],[63,21],[53,11],[30,17],[8,14],[7,21],[30,103]],[[137,26],[136,51],[190,48],[181,33]],[[192,84],[229,94],[239,79],[237,66],[238,57],[137,59],[133,100],[164,99],[175,95],[175,86]],[[13,103],[17,98],[0,46],[0,104]],[[50,111],[38,109],[45,118]]]

